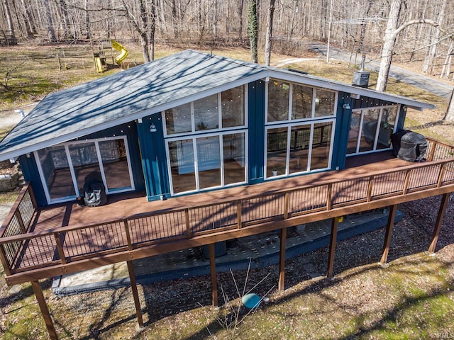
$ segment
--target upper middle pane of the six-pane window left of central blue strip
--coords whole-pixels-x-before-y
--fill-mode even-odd
[[[194,120],[196,131],[219,127],[217,94],[194,101]]]

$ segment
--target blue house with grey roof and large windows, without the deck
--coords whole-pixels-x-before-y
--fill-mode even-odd
[[[0,143],[39,207],[87,174],[148,200],[345,168],[433,105],[187,50],[50,94]]]

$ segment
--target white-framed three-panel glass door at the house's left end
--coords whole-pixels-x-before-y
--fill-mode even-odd
[[[48,203],[72,200],[87,179],[103,181],[106,193],[134,190],[126,137],[67,142],[35,152]]]

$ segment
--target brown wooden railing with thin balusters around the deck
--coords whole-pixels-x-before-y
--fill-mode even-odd
[[[443,143],[431,142],[431,154],[450,154]],[[433,150],[433,152],[432,152]],[[438,151],[441,150],[441,151]],[[66,264],[157,243],[258,225],[311,212],[441,188],[454,183],[454,159],[412,164],[394,171],[377,171],[355,178],[321,181],[316,185],[275,191],[261,196],[226,200],[192,208],[153,212],[97,225],[68,226],[27,232],[16,222],[2,227],[0,255],[8,275]],[[23,201],[31,200],[25,198]],[[24,203],[18,203],[21,206]],[[28,203],[31,204],[31,203]],[[26,205],[26,204],[25,204]],[[21,210],[23,208],[18,208]],[[27,209],[23,209],[28,212]],[[34,211],[34,210],[33,210]],[[31,220],[30,212],[18,215]],[[16,215],[13,213],[13,215]],[[10,222],[13,218],[9,218]],[[24,224],[24,226],[27,225]]]

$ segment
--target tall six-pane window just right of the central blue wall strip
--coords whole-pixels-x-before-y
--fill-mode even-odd
[[[265,177],[330,169],[337,93],[270,79]]]

